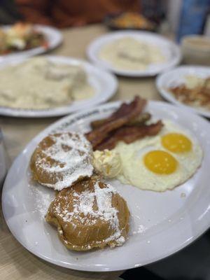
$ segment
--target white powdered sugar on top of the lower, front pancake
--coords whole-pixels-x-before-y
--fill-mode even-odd
[[[113,235],[104,239],[104,243],[115,241],[115,245],[120,246],[125,242],[125,237],[122,236],[118,220],[118,210],[112,207],[112,196],[116,194],[116,189],[111,185],[106,185],[105,188],[100,188],[99,182],[94,183],[94,190],[85,190],[82,193],[73,193],[73,211],[61,211],[61,206],[58,204],[55,209],[57,215],[63,221],[73,223],[73,218],[77,218],[80,223],[93,225],[97,220],[109,221],[110,227],[113,229]],[[82,215],[81,215],[82,214]]]

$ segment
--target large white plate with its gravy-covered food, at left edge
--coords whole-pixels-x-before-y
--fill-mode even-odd
[[[64,116],[106,102],[118,88],[111,73],[71,57],[16,58],[0,68],[3,116]]]

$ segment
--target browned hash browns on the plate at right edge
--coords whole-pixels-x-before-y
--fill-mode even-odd
[[[210,110],[210,77],[189,75],[185,77],[184,83],[167,90],[184,104]]]

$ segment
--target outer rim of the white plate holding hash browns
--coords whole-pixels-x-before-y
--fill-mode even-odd
[[[174,104],[175,106],[179,106],[182,109],[188,110],[191,113],[195,113],[196,115],[199,116],[203,116],[205,118],[210,118],[210,111],[203,111],[202,109],[197,109],[194,108],[193,106],[187,105],[187,104],[183,104],[182,102],[179,102],[179,100],[175,99],[175,97],[173,97],[173,95],[165,90],[163,87],[163,83],[164,83],[164,79],[171,75],[173,72],[179,71],[179,69],[203,69],[203,70],[208,70],[210,72],[210,68],[208,66],[202,66],[202,65],[195,65],[195,64],[189,64],[189,65],[180,65],[180,66],[176,66],[173,69],[170,69],[167,72],[164,73],[160,73],[156,79],[155,79],[155,86],[158,89],[158,93],[160,94],[160,96],[165,99],[167,102],[169,102],[170,104]]]

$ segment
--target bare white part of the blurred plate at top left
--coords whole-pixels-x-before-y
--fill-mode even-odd
[[[3,26],[1,27],[4,30],[9,29],[11,26]],[[48,41],[48,48],[44,47],[38,47],[38,48],[32,48],[31,50],[23,50],[20,52],[13,52],[8,55],[0,55],[0,62],[8,62],[12,61],[15,58],[18,57],[31,57],[34,55],[40,55],[43,52],[48,52],[48,50],[52,50],[53,48],[56,48],[58,45],[60,45],[63,41],[62,33],[53,27],[48,27],[45,25],[34,25],[34,29],[37,31],[41,31],[41,33],[44,34],[45,38]]]

